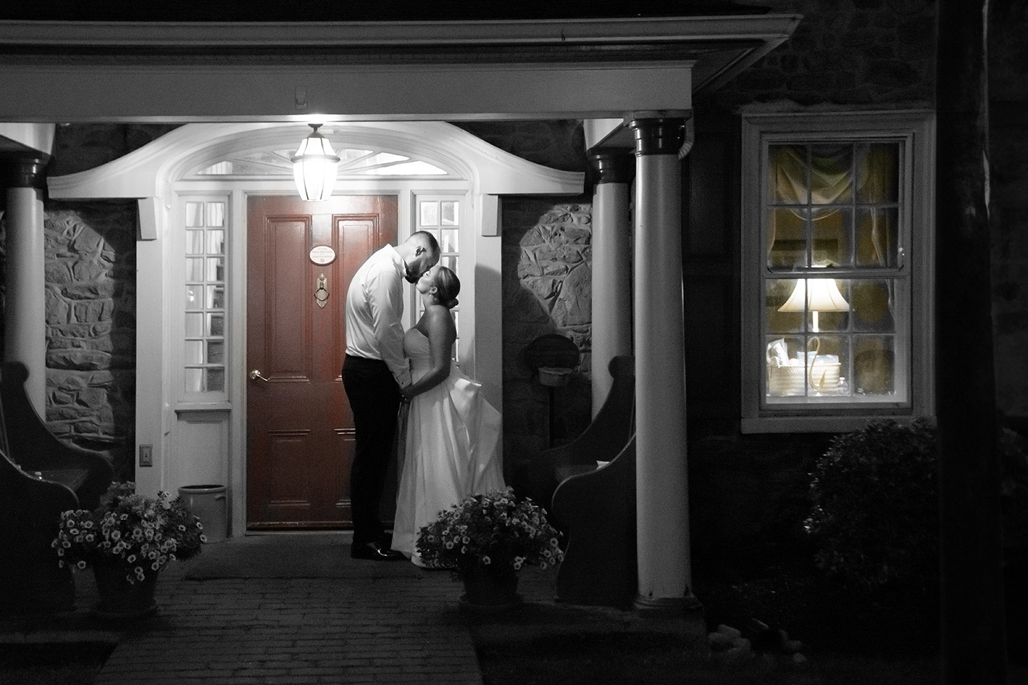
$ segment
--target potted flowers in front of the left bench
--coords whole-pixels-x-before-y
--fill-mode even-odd
[[[100,593],[95,613],[133,617],[152,612],[157,573],[169,562],[199,554],[204,527],[181,498],[136,493],[135,483],[112,483],[100,506],[61,515],[51,546],[59,564],[93,567]]]

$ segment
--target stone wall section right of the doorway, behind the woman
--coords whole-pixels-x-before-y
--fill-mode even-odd
[[[582,122],[480,121],[456,125],[523,159],[586,173],[582,197],[503,199],[504,455],[510,466],[581,433],[592,417],[592,169]],[[566,387],[550,390],[525,364],[536,338],[559,334],[579,348]],[[488,352],[486,352],[488,353]]]

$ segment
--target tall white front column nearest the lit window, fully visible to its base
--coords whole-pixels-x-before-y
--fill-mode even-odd
[[[693,597],[686,464],[682,119],[636,119],[635,401],[638,595],[642,613],[685,613]]]

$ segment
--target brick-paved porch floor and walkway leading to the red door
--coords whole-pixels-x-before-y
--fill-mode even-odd
[[[701,623],[684,619],[640,618],[632,611],[556,603],[556,574],[537,568],[521,574],[522,607],[503,615],[469,614],[460,608],[463,585],[447,572],[405,562],[355,561],[348,555],[348,534],[336,535],[328,547],[338,551],[335,569],[324,560],[303,562],[305,539],[311,551],[324,555],[325,534],[234,537],[213,543],[196,559],[166,567],[157,583],[156,613],[127,624],[90,614],[98,599],[93,575],[77,573],[74,611],[0,619],[0,642],[53,644],[54,649],[60,643],[116,643],[96,685],[481,685],[475,643],[483,637],[525,640],[557,633],[658,629],[680,633],[696,645],[705,638]],[[321,544],[314,546],[318,539]],[[256,559],[255,542],[267,558],[296,560],[285,565],[295,573],[259,568],[248,572],[247,562]],[[213,572],[210,565],[199,572],[205,554],[209,563],[218,562]],[[225,571],[234,555],[242,556],[244,563],[236,569],[243,570]],[[237,577],[227,577],[232,575]]]

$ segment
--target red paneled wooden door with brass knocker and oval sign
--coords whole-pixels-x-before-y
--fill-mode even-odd
[[[247,227],[247,528],[347,528],[346,289],[396,244],[396,197],[251,197]]]

